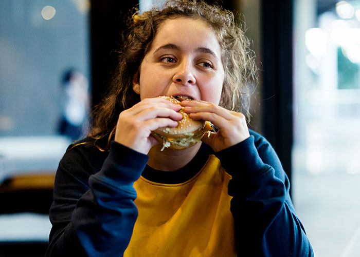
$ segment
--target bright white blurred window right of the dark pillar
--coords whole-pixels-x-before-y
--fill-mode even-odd
[[[294,202],[316,256],[358,256],[360,2],[298,0],[295,17]]]

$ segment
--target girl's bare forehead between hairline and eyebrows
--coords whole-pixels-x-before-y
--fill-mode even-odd
[[[150,51],[161,45],[175,44],[182,49],[206,47],[219,54],[218,38],[205,21],[190,17],[169,18],[158,28]]]

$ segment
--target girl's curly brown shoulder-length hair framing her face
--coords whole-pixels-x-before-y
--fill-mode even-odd
[[[255,54],[249,39],[232,12],[203,1],[171,0],[163,8],[154,8],[129,19],[129,29],[123,36],[123,47],[118,52],[119,62],[110,91],[95,108],[89,136],[108,136],[110,143],[115,133],[118,116],[140,101],[133,91],[133,78],[151,48],[156,32],[169,18],[190,17],[206,22],[215,32],[221,47],[225,70],[220,106],[244,113],[249,119],[250,86],[257,83]]]

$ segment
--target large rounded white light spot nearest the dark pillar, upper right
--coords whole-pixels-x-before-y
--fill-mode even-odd
[[[320,28],[311,28],[305,32],[305,45],[315,57],[321,57],[326,53],[327,36]]]

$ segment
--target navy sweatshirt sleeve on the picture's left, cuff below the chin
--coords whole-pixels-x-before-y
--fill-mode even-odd
[[[133,183],[147,161],[147,155],[112,142],[102,168],[91,174],[81,154],[65,154],[56,175],[46,255],[122,256],[137,219]]]

